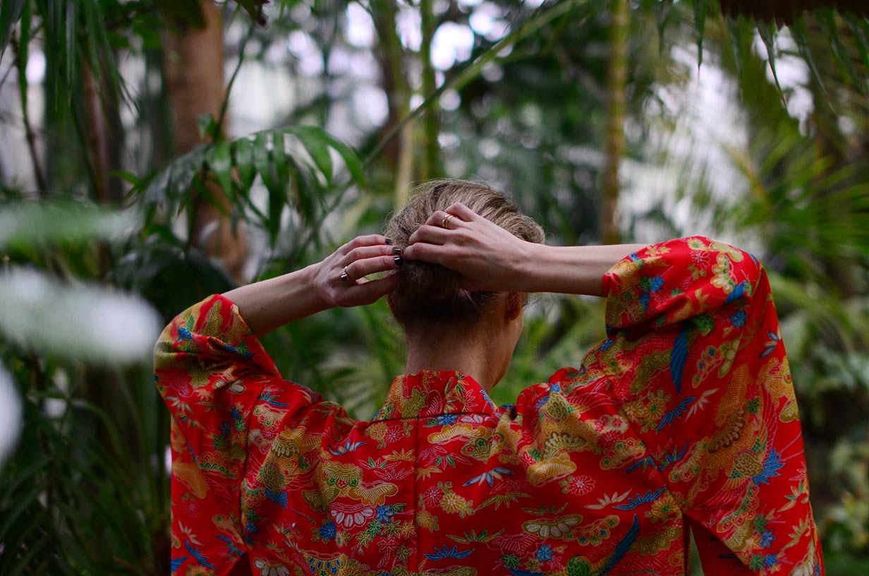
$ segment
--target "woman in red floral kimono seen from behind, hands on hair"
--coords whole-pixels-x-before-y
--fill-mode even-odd
[[[547,246],[500,193],[455,180],[423,186],[388,237],[163,332],[174,573],[683,574],[689,528],[706,574],[823,572],[751,255],[706,238]],[[606,296],[607,339],[496,407],[537,291]],[[282,379],[257,339],[384,295],[407,373],[371,421]]]

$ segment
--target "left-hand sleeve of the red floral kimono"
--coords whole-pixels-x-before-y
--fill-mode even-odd
[[[154,369],[172,415],[173,573],[228,573],[246,549],[241,486],[255,406],[291,412],[319,397],[281,378],[237,306],[219,295],[166,326]]]

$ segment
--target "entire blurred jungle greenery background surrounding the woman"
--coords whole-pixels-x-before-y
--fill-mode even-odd
[[[552,243],[700,233],[762,258],[828,573],[869,572],[867,16],[859,0],[4,0],[0,573],[168,573],[159,327],[379,231],[438,176],[512,191]],[[600,302],[537,299],[496,399],[602,333]],[[266,345],[366,419],[400,342],[379,303]]]

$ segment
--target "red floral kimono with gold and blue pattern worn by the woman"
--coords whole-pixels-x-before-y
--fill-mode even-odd
[[[405,375],[370,422],[283,381],[226,298],[185,312],[156,356],[176,566],[227,573],[246,550],[267,576],[681,574],[692,526],[706,574],[819,572],[760,265],[687,238],[605,285],[608,338],[579,370],[502,408],[459,372]]]

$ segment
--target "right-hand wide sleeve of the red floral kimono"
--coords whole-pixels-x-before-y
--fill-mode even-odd
[[[766,271],[707,238],[604,278],[621,412],[692,526],[706,574],[823,573],[799,412]]]

